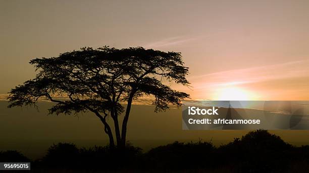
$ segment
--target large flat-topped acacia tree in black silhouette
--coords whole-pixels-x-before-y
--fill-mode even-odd
[[[11,90],[9,108],[36,106],[38,100],[44,99],[56,103],[48,110],[49,114],[90,111],[104,125],[111,147],[115,147],[114,137],[117,147],[125,147],[132,101],[153,95],[152,104],[158,112],[168,109],[170,104],[180,106],[183,99],[189,98],[163,82],[189,85],[188,67],[177,52],[142,47],[85,47],[58,57],[36,58],[30,64],[34,64],[38,74]],[[107,121],[109,116],[114,122],[115,136]],[[121,128],[119,117],[123,117]]]

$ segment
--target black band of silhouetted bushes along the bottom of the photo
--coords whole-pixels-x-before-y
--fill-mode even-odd
[[[292,146],[266,130],[249,132],[219,147],[201,140],[176,141],[147,152],[131,144],[126,147],[127,161],[122,162],[119,154],[123,153],[110,146],[77,148],[72,143],[54,144],[42,159],[32,161],[31,169],[35,172],[307,172],[309,168],[308,145]],[[20,159],[11,159],[17,160]]]

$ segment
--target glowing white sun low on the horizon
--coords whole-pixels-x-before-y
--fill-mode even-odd
[[[218,100],[220,101],[246,101],[252,100],[252,94],[250,92],[236,87],[228,87],[218,89],[216,92]]]

